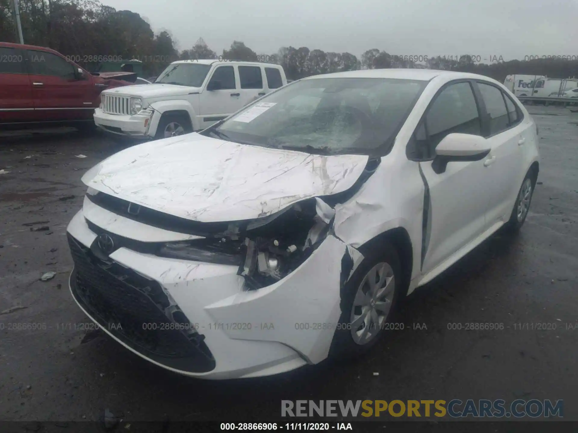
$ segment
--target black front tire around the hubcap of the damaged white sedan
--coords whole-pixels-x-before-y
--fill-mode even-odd
[[[335,329],[334,337],[331,342],[331,348],[329,349],[330,358],[355,358],[368,352],[369,349],[375,346],[380,338],[383,337],[385,333],[387,333],[387,326],[384,325],[386,323],[392,323],[392,320],[395,320],[398,311],[398,305],[401,303],[402,298],[405,297],[406,291],[403,287],[404,283],[399,254],[390,242],[387,240],[381,241],[379,243],[379,248],[370,248],[370,252],[365,252],[364,257],[364,260],[360,263],[354,274],[341,290],[340,307],[342,313],[339,318],[338,326]],[[355,342],[353,339],[353,334],[351,331],[351,311],[354,309],[354,300],[358,289],[360,289],[360,285],[364,282],[364,279],[368,275],[369,271],[380,263],[387,263],[393,273],[394,278],[390,282],[394,283],[394,288],[392,289],[393,294],[391,299],[391,307],[386,317],[383,319],[383,322],[380,323],[379,326],[370,326],[370,328],[377,330],[375,337],[371,338],[365,344],[360,344]],[[360,307],[355,308],[357,308],[357,312],[360,312]],[[364,327],[362,326],[361,330],[363,329]]]

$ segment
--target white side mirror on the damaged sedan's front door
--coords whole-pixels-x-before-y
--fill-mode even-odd
[[[450,161],[479,161],[491,151],[490,143],[479,135],[452,133],[443,137],[435,148],[432,168],[436,173],[446,171]]]

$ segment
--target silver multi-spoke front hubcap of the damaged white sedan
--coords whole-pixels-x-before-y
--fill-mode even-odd
[[[361,281],[351,308],[351,337],[357,344],[372,341],[387,320],[395,293],[394,270],[377,263]]]

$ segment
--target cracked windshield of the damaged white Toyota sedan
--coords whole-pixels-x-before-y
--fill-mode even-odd
[[[298,81],[205,135],[310,153],[370,155],[392,142],[427,84],[375,78]]]

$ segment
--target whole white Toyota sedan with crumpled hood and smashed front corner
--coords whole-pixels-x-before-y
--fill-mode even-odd
[[[72,296],[144,359],[210,379],[364,352],[407,293],[520,229],[538,130],[498,81],[294,81],[200,133],[110,156],[68,226]]]

